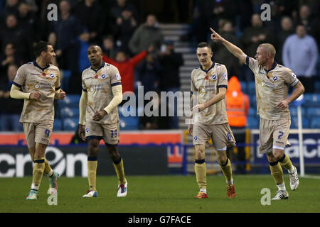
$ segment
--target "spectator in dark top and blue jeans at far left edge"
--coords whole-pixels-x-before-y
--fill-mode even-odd
[[[17,70],[18,67],[16,65],[9,65],[7,81],[0,84],[0,104],[1,106],[6,106],[4,111],[1,111],[2,131],[23,131],[23,126],[19,123],[23,100],[10,97],[11,85],[14,77],[16,77]]]

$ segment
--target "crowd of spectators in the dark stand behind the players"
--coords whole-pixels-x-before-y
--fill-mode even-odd
[[[270,4],[271,21],[262,21],[262,4]],[[58,20],[48,20],[48,4],[58,6]],[[306,93],[320,81],[320,1],[316,0],[0,0],[0,131],[21,131],[18,123],[23,101],[11,99],[9,89],[18,67],[34,60],[33,45],[52,43],[55,65],[68,94],[81,93],[81,72],[90,66],[87,47],[95,43],[104,60],[117,65],[125,91],[180,89],[178,68],[183,57],[174,42],[164,40],[159,23],[188,23],[181,42],[191,48],[210,40],[209,27],[254,57],[257,46],[272,43],[279,64],[292,68]],[[213,58],[240,81],[252,82],[253,74],[226,51],[211,43]],[[196,55],[196,53],[195,53]],[[126,79],[127,78],[127,79]],[[126,80],[124,82],[124,80]],[[57,111],[56,117],[60,118]],[[139,128],[178,128],[178,118],[142,118]]]

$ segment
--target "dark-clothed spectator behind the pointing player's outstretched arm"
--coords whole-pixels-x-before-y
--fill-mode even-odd
[[[231,43],[235,43],[235,45],[240,46],[240,40],[237,38],[237,36],[235,36],[233,23],[231,23],[231,21],[223,20],[220,33],[227,40],[230,40]],[[210,45],[213,47],[213,57],[215,58],[215,61],[223,62],[225,67],[227,67],[228,74],[240,75],[239,60],[230,52],[225,51],[223,44],[210,40]],[[239,79],[242,80],[242,78]]]

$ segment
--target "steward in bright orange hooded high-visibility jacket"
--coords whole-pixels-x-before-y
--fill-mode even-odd
[[[247,94],[241,92],[241,84],[237,77],[229,79],[225,103],[230,127],[242,128],[247,126],[250,102]]]

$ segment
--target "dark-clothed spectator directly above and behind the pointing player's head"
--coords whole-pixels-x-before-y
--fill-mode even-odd
[[[248,56],[255,56],[257,47],[262,43],[271,43],[273,44],[272,34],[269,30],[263,27],[263,23],[260,18],[260,14],[255,13],[251,18],[252,26],[245,28],[245,31],[242,34],[242,45],[244,47],[244,52]],[[249,67],[244,67],[244,78],[247,82],[252,81],[253,73]]]

